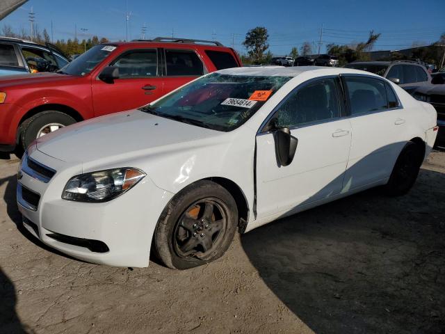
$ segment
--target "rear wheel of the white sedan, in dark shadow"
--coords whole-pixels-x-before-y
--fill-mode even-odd
[[[423,162],[423,148],[420,144],[408,142],[398,155],[391,172],[386,191],[389,196],[405,195],[416,182]]]

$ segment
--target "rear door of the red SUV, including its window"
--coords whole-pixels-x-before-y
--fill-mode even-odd
[[[200,56],[193,49],[164,49],[163,58],[163,94],[207,72]]]

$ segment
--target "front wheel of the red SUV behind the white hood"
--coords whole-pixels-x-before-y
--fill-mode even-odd
[[[23,150],[38,138],[40,132],[54,130],[51,127],[67,127],[76,122],[74,118],[61,111],[42,111],[25,120],[20,126],[20,143]]]

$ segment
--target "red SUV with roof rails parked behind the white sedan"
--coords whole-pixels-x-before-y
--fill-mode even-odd
[[[0,151],[23,152],[40,136],[143,106],[202,74],[241,66],[220,42],[155,38],[96,45],[56,73],[0,79]]]

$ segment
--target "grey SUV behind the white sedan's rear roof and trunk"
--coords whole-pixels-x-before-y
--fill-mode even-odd
[[[408,93],[413,93],[421,86],[428,86],[431,82],[426,67],[416,61],[357,61],[345,67],[378,74],[394,81]]]

